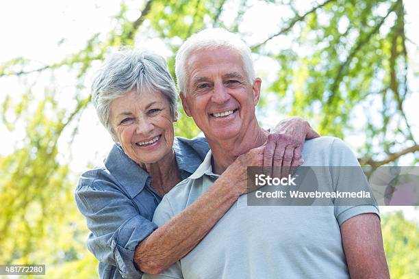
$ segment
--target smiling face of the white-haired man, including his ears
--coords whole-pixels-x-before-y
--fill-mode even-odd
[[[261,80],[249,83],[240,55],[230,49],[196,51],[187,60],[186,73],[183,109],[207,139],[244,135],[255,120]]]

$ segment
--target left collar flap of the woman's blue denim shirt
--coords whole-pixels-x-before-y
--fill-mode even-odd
[[[146,184],[150,184],[151,176],[132,161],[118,144],[114,144],[104,163],[131,198],[137,196]]]

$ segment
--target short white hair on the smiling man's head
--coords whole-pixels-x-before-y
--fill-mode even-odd
[[[236,34],[222,28],[209,28],[199,31],[183,42],[176,55],[175,72],[177,85],[183,96],[188,87],[188,75],[186,61],[196,51],[232,49],[242,57],[244,72],[249,83],[255,81],[255,68],[253,66],[251,49]]]

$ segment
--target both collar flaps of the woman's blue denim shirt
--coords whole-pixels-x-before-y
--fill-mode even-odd
[[[173,151],[175,152],[181,178],[188,178],[199,167],[201,161],[188,154],[184,148],[181,148],[176,137],[173,141]],[[144,186],[150,187],[150,174],[130,159],[119,144],[114,144],[104,163],[106,169],[109,170],[131,198],[137,196],[144,189]]]

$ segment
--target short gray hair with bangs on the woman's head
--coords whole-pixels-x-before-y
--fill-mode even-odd
[[[176,118],[177,91],[165,59],[151,51],[120,50],[103,63],[92,83],[92,103],[97,116],[115,142],[117,136],[110,124],[110,104],[134,88],[138,94],[144,88],[162,92],[168,98],[173,120]]]

